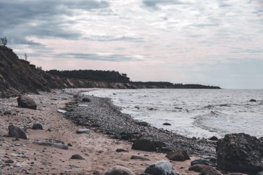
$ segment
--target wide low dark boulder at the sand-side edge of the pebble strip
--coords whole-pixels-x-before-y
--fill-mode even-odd
[[[131,149],[142,150],[142,151],[156,151],[156,145],[150,140],[139,139],[134,142]]]

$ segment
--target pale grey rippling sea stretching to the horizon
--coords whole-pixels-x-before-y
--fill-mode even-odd
[[[86,94],[110,98],[136,120],[183,136],[263,136],[263,90],[100,89]]]

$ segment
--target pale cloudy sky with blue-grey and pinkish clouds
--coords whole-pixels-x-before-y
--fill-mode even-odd
[[[0,36],[44,70],[263,89],[263,0],[0,0]]]

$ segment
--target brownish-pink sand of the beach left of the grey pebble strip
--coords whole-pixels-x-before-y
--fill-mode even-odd
[[[79,90],[66,91],[72,93]],[[104,174],[115,165],[128,167],[136,174],[141,174],[148,165],[158,160],[167,160],[165,154],[136,151],[131,149],[131,142],[108,138],[91,130],[90,133],[76,133],[84,127],[74,125],[57,112],[57,109],[63,109],[66,102],[73,99],[73,95],[65,91],[28,96],[37,103],[37,110],[17,107],[16,98],[0,99],[0,174]],[[13,114],[3,115],[7,110]],[[34,123],[40,123],[44,130],[27,129],[28,140],[15,140],[5,137],[10,123],[21,128],[31,128]],[[66,145],[71,143],[73,147],[65,150],[35,145],[35,140],[63,142]],[[118,148],[128,152],[116,152]],[[20,157],[19,153],[23,153],[23,156]],[[73,154],[80,154],[85,160],[70,159]],[[149,160],[131,160],[133,155],[145,156]],[[8,159],[14,160],[14,163],[5,165]],[[175,172],[198,174],[188,171],[190,160],[170,162]]]

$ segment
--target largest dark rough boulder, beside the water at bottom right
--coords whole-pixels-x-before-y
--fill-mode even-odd
[[[227,134],[217,142],[217,166],[230,172],[263,170],[263,142],[245,133]]]

